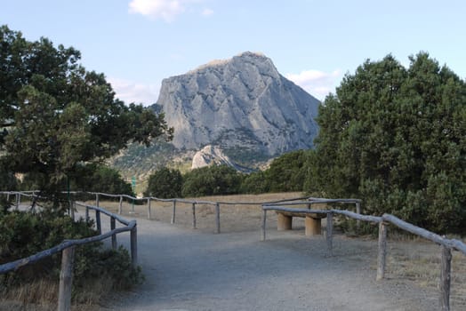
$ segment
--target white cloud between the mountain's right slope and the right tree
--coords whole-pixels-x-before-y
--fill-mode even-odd
[[[340,82],[341,71],[334,70],[327,73],[319,70],[305,70],[299,74],[286,74],[285,76],[318,100],[324,100],[329,92],[334,92]]]

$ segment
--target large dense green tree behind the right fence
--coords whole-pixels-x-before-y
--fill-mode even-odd
[[[421,52],[343,78],[319,111],[307,187],[437,232],[466,221],[466,84]]]

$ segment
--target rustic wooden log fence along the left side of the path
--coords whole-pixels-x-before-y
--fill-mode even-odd
[[[20,193],[20,192],[0,192],[4,195],[16,195],[15,205],[16,208],[20,206],[20,196],[21,195],[35,195],[34,193]],[[34,255],[29,256],[28,258],[18,259],[12,262],[5,263],[0,265],[0,275],[5,273],[15,271],[20,267],[28,266],[35,263],[41,259],[47,258],[61,251],[61,270],[60,270],[60,285],[59,285],[59,299],[58,299],[58,310],[59,311],[68,311],[71,306],[71,285],[72,285],[72,271],[74,264],[74,254],[75,248],[78,245],[83,245],[87,243],[95,243],[111,237],[112,248],[116,249],[116,235],[123,232],[130,232],[130,249],[131,249],[131,259],[133,267],[137,266],[138,263],[138,250],[137,250],[137,223],[136,220],[126,220],[119,215],[116,215],[110,211],[107,211],[99,206],[93,206],[85,203],[75,203],[78,206],[83,206],[85,208],[85,219],[89,220],[89,211],[95,211],[96,227],[99,232],[99,235],[87,237],[79,240],[66,240],[52,247],[51,249],[40,251]],[[72,209],[74,211],[74,208]],[[105,214],[110,218],[110,231],[102,234],[101,232],[101,220],[100,214]],[[116,228],[116,220],[124,225],[125,227]]]

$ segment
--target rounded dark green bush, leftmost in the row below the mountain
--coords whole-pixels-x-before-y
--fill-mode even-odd
[[[144,195],[165,199],[181,197],[182,185],[181,172],[164,167],[149,176],[148,187]]]

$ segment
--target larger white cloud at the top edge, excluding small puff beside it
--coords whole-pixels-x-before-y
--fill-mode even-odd
[[[172,21],[185,11],[182,0],[132,0],[129,4],[131,13],[140,13],[153,19]]]

